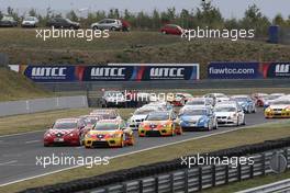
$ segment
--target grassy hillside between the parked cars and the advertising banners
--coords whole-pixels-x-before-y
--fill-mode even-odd
[[[34,30],[0,30],[0,52],[12,64],[199,63],[201,78],[209,61],[288,61],[289,45],[230,39],[192,39],[158,32],[115,32],[107,39],[36,38]],[[16,39],[16,41],[15,41]]]

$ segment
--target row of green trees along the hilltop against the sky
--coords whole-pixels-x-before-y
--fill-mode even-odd
[[[12,15],[15,20],[21,21],[20,16],[11,7],[7,9],[7,14]],[[133,29],[142,30],[157,30],[167,23],[175,23],[183,29],[212,27],[212,29],[254,29],[256,34],[266,35],[268,26],[281,25],[290,27],[290,15],[285,19],[278,13],[272,21],[270,21],[260,9],[256,5],[249,5],[244,12],[242,19],[225,19],[219,8],[212,5],[211,2],[201,2],[200,7],[191,10],[182,9],[177,12],[175,8],[168,8],[166,11],[153,10],[152,13],[140,11],[136,13],[129,10],[120,11],[119,9],[111,9],[109,11],[89,11],[87,16],[79,16],[74,10],[65,15],[62,13],[54,13],[51,8],[46,9],[46,14],[40,14],[35,9],[31,9],[27,15],[36,16],[40,20],[41,26],[45,26],[47,20],[55,16],[65,16],[72,21],[78,21],[83,27],[89,27],[91,23],[98,22],[104,18],[123,19],[126,20]],[[0,12],[0,18],[3,13]]]

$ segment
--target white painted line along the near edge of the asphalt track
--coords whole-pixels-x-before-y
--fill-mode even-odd
[[[271,123],[277,123],[277,122],[271,122]],[[133,154],[136,154],[136,152],[143,152],[143,151],[157,149],[157,148],[160,148],[160,147],[166,147],[166,146],[170,146],[170,145],[175,145],[175,144],[186,143],[186,141],[189,141],[189,140],[197,140],[197,139],[207,138],[207,137],[211,137],[211,136],[215,136],[215,135],[222,135],[222,134],[236,132],[236,130],[239,130],[239,129],[243,129],[243,128],[253,127],[253,126],[267,125],[267,124],[271,124],[271,123],[261,123],[261,124],[256,124],[256,125],[250,125],[250,126],[237,127],[237,128],[234,128],[234,129],[219,132],[219,133],[213,133],[213,134],[209,134],[209,135],[203,135],[203,136],[199,136],[199,137],[196,137],[196,138],[188,138],[188,139],[183,139],[183,140],[179,140],[179,141],[175,141],[175,143],[164,144],[164,145],[160,145],[160,146],[154,146],[154,147],[149,147],[149,148],[146,148],[146,149],[141,149],[141,150],[136,150],[136,151],[132,151],[132,152],[126,152],[126,154],[113,156],[113,157],[110,157],[110,159],[120,158],[120,157],[124,157],[124,156],[130,156],[130,155],[133,155]],[[21,179],[21,180],[15,180],[15,181],[11,181],[11,182],[8,182],[8,183],[2,183],[2,184],[0,184],[0,188],[1,186],[5,186],[5,185],[10,185],[10,184],[13,184],[13,183],[18,183],[18,182],[23,182],[23,181],[26,181],[26,180],[40,178],[40,177],[45,177],[45,175],[48,175],[48,174],[58,173],[58,172],[66,171],[66,170],[71,170],[71,169],[79,168],[79,167],[83,167],[83,166],[74,166],[74,167],[63,168],[63,169],[51,171],[51,172],[46,172],[46,173],[43,173],[43,174],[37,174],[37,175],[33,175],[33,177]]]

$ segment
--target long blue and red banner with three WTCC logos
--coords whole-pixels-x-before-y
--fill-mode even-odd
[[[198,80],[198,64],[110,64],[108,66],[21,66],[36,82]]]

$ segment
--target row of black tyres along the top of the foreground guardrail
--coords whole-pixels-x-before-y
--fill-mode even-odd
[[[212,157],[241,157],[261,154],[270,150],[282,149],[290,147],[290,137],[280,138],[276,140],[266,140],[264,143],[243,145],[239,147],[228,148],[202,154],[201,156]],[[288,151],[287,151],[288,152]],[[192,157],[196,157],[193,155]],[[163,161],[146,166],[140,166],[131,169],[123,169],[119,171],[108,172],[101,175],[74,180],[70,182],[58,183],[53,185],[38,186],[21,191],[20,193],[72,193],[83,192],[97,188],[109,186],[112,184],[124,183],[142,178],[156,177],[158,174],[166,174],[177,170],[187,169],[186,164],[181,164],[181,158],[170,161]],[[200,177],[202,178],[202,177]]]

